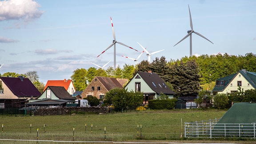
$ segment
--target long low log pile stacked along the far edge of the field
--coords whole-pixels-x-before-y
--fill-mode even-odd
[[[37,109],[33,114],[35,116],[44,116],[44,115],[68,115],[72,113],[108,113],[108,107],[57,107],[57,108],[41,108]]]

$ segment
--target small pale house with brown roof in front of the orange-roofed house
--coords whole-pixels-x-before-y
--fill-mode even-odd
[[[29,100],[28,106],[36,108],[64,107],[75,103],[76,98],[71,96],[64,87],[48,86],[36,100]]]

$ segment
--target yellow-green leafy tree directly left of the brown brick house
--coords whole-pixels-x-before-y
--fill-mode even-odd
[[[74,83],[74,86],[76,88],[76,91],[83,91],[87,87],[87,70],[84,68],[77,68],[73,71],[72,76],[70,78],[72,79],[72,82]]]

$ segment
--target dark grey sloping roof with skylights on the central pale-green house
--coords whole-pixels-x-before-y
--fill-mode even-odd
[[[137,73],[148,84],[148,86],[157,94],[160,94],[161,92],[164,94],[176,94],[165,84],[164,80],[162,80],[160,76],[158,76],[158,74],[152,73],[152,72],[137,72]]]

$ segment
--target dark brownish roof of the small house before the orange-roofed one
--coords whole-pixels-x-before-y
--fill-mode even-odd
[[[49,89],[61,100],[76,100],[75,97],[71,96],[64,87],[59,86],[48,86]],[[47,90],[46,88],[45,90]]]

